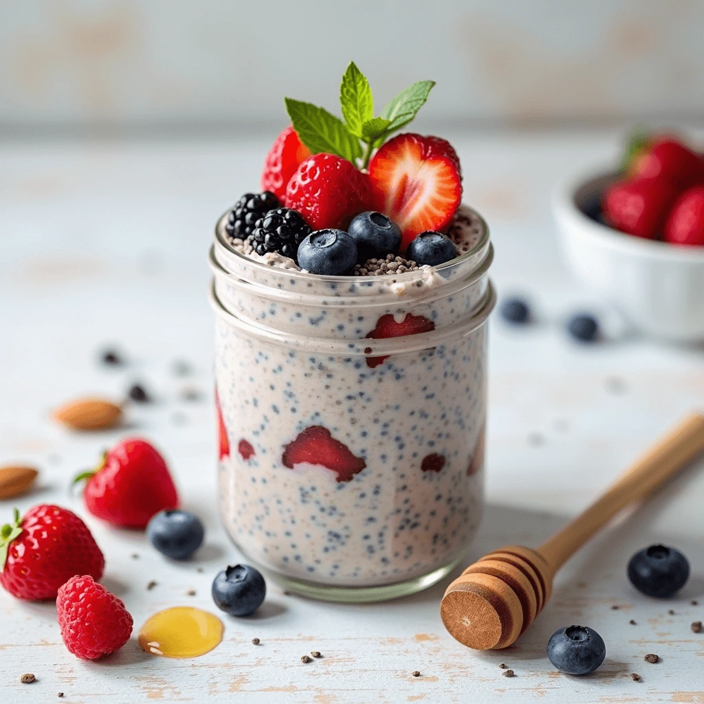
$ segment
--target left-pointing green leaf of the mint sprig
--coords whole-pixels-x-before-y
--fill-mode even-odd
[[[362,146],[345,123],[312,103],[284,98],[286,109],[301,142],[310,153],[327,152],[352,163],[362,156]]]

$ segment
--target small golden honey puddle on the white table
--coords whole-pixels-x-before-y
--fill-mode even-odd
[[[165,658],[197,658],[218,646],[224,630],[222,621],[207,611],[175,606],[144,622],[139,629],[139,646]]]

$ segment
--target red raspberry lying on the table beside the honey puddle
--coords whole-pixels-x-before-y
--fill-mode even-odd
[[[125,604],[87,574],[72,577],[58,590],[56,617],[69,652],[83,660],[114,653],[132,634]]]

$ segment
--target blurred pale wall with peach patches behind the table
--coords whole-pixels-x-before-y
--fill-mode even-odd
[[[379,105],[438,82],[418,129],[699,122],[698,0],[4,0],[0,130],[274,130],[334,109],[353,59]]]

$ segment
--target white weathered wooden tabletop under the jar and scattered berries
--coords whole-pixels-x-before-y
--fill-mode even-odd
[[[562,270],[548,192],[566,170],[615,158],[617,135],[453,142],[463,159],[466,200],[491,226],[498,290],[528,294],[540,318],[527,330],[507,329],[496,316],[491,322],[488,506],[471,560],[502,543],[537,544],[662,429],[701,408],[704,348],[639,338]],[[0,513],[6,519],[14,503],[25,510],[53,501],[86,517],[68,492],[70,478],[125,429],[69,434],[51,423],[49,411],[80,394],[119,397],[131,382],[144,382],[156,402],[132,409],[129,431],[163,448],[207,537],[196,559],[174,565],[142,534],[86,517],[106,554],[104,584],[125,601],[137,627],[170,605],[217,612],[210,582],[239,559],[215,518],[206,250],[215,218],[258,186],[266,147],[258,141],[0,150],[0,463],[34,463],[42,472],[36,491],[0,502]],[[578,347],[565,339],[562,320],[582,307],[603,316],[608,341]],[[108,369],[96,361],[111,344],[129,366]],[[172,374],[177,359],[193,365],[190,377]],[[201,390],[203,400],[180,400],[187,386]],[[446,634],[438,607],[447,582],[365,606],[287,596],[270,582],[260,613],[225,617],[224,642],[202,658],[155,658],[133,636],[100,662],[65,650],[54,605],[22,603],[2,591],[0,700],[44,703],[63,692],[71,703],[701,703],[704,634],[693,634],[690,624],[704,619],[702,470],[700,463],[586,546],[560,572],[529,634],[503,652],[475,653]],[[678,546],[691,560],[693,577],[673,601],[651,601],[625,577],[629,555],[655,541]],[[147,591],[151,580],[158,584]],[[190,589],[196,596],[187,596]],[[548,637],[572,623],[595,628],[605,640],[607,659],[591,677],[565,677],[546,658]],[[260,646],[251,644],[255,636]],[[324,657],[304,665],[300,657],[310,650]],[[646,653],[662,662],[644,662]],[[501,662],[515,677],[502,677]],[[20,684],[25,672],[37,681]],[[642,681],[632,681],[631,672]]]

